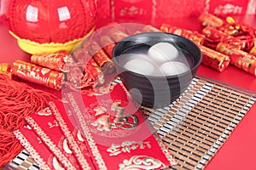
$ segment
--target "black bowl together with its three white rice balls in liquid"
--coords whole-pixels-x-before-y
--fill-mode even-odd
[[[185,37],[148,32],[118,42],[113,61],[131,97],[143,106],[160,108],[188,88],[201,64],[201,50]]]

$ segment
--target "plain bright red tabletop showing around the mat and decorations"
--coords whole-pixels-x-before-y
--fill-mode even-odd
[[[239,17],[239,20],[256,28],[256,16],[249,15]],[[136,22],[136,20],[133,20]],[[160,26],[161,20],[158,20],[155,26]],[[198,20],[195,19],[177,19],[164,20],[164,23],[171,23],[174,26],[180,26],[190,30],[201,28]],[[12,63],[15,59],[29,60],[30,54],[23,52],[17,45],[14,37],[9,35],[8,29],[0,23],[0,62]],[[245,88],[256,92],[256,77],[241,71],[234,66],[229,66],[224,72],[212,70],[207,66],[201,65],[197,71],[198,75],[210,77],[220,82],[228,83],[232,86]],[[38,88],[37,85],[31,84]],[[51,93],[60,95],[60,93],[43,88]],[[207,164],[207,170],[215,169],[256,169],[256,105],[253,105],[247,115],[241,120],[230,138],[224,143],[218,153]]]

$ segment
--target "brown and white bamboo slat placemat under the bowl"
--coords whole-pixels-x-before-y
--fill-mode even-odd
[[[255,96],[195,77],[172,105],[157,110],[142,109],[177,159],[172,169],[203,169],[252,107]],[[39,169],[26,150],[9,167]]]

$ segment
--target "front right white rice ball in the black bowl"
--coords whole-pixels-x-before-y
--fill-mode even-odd
[[[174,76],[189,71],[189,66],[178,61],[169,61],[160,65],[160,71],[164,76]]]

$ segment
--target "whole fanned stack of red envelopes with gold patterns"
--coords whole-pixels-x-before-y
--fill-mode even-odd
[[[122,84],[81,94],[26,117],[15,131],[41,169],[161,169],[176,163]]]

